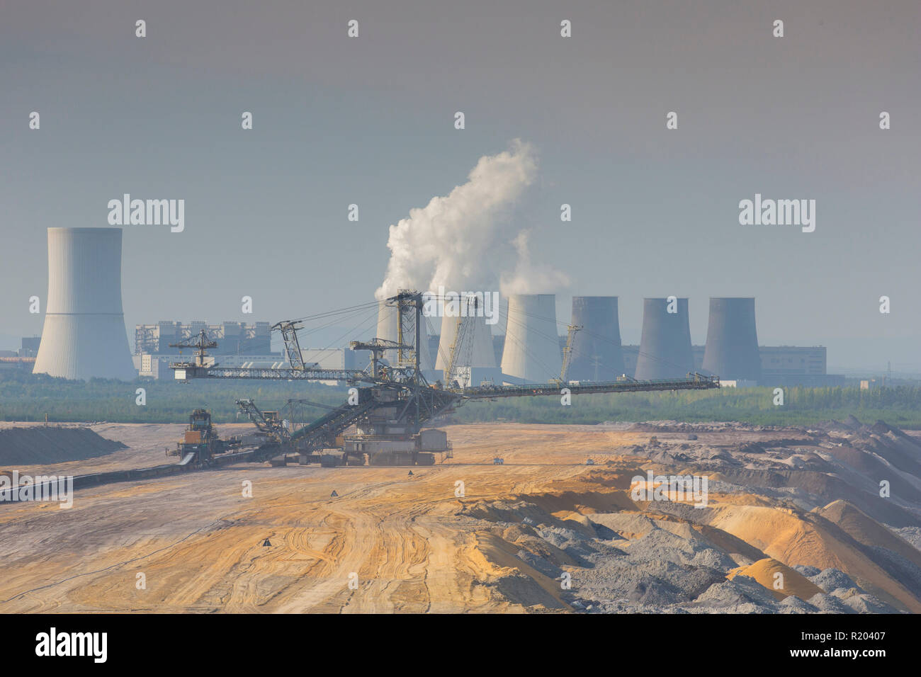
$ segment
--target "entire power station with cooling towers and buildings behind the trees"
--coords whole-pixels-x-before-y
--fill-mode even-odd
[[[273,331],[280,324],[268,321],[137,324],[131,355],[124,332],[121,257],[120,228],[49,228],[44,332],[23,338],[17,353],[0,356],[2,367],[32,368],[67,379],[169,379],[169,365],[189,356],[189,346],[199,336],[215,344],[208,366],[292,366],[290,349],[272,351]],[[826,373],[822,346],[759,346],[754,298],[710,298],[702,346],[691,343],[687,298],[643,299],[639,345],[621,342],[617,297],[574,297],[568,324],[557,320],[555,300],[553,294],[509,297],[495,335],[475,312],[471,317],[463,312],[462,317],[422,318],[419,368],[431,382],[461,388],[621,377],[681,379],[694,372],[736,386],[844,384],[844,377]],[[414,336],[401,332],[396,306],[377,303],[376,338],[385,344],[377,356],[386,367],[399,362],[401,340],[406,344]],[[297,364],[342,371],[367,370],[373,352],[344,344],[297,345],[297,350]]]

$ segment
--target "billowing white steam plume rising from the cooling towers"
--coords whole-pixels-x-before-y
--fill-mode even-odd
[[[402,288],[471,291],[493,285],[513,240],[519,263],[509,284],[544,284],[528,278],[540,271],[530,264],[527,234],[516,233],[508,219],[536,175],[533,147],[516,139],[507,151],[480,158],[468,181],[447,196],[411,209],[409,218],[390,228],[391,260],[375,296],[388,298]]]

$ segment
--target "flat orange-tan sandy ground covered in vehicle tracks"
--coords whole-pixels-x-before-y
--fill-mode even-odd
[[[83,490],[71,509],[6,507],[0,611],[520,611],[480,584],[496,566],[455,513],[462,502],[541,491],[586,472],[589,456],[600,462],[648,437],[575,427],[452,426],[455,458],[413,476],[244,464]],[[181,428],[96,426],[130,449],[20,472],[163,462]],[[493,465],[497,455],[505,465]]]

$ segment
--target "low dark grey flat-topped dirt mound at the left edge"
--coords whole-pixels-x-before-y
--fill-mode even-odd
[[[88,427],[13,427],[0,430],[0,466],[82,461],[127,449]]]

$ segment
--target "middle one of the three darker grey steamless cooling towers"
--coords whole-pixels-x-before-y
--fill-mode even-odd
[[[635,379],[682,379],[694,371],[688,299],[676,299],[674,309],[676,312],[669,312],[667,298],[643,299],[643,335]]]

